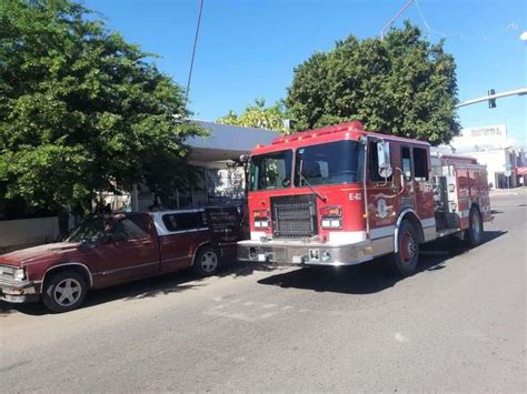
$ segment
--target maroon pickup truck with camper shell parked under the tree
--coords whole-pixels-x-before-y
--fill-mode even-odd
[[[0,255],[0,300],[79,307],[90,289],[192,267],[215,274],[240,240],[236,208],[93,216],[70,236]]]

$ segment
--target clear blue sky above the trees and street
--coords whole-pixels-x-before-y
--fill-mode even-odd
[[[348,34],[378,36],[405,0],[205,0],[196,53],[190,109],[216,120],[241,111],[255,98],[284,98],[294,68],[315,51],[327,51]],[[147,52],[159,69],[186,85],[199,0],[86,0],[108,27]],[[457,62],[459,99],[527,85],[525,0],[419,0],[409,19]],[[421,13],[419,13],[419,9]],[[464,127],[507,124],[509,137],[526,144],[527,97],[459,109]]]

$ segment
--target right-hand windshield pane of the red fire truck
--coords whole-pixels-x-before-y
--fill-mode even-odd
[[[297,149],[295,185],[352,183],[362,180],[364,145],[336,141]]]

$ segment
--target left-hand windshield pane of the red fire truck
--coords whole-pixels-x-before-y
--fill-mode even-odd
[[[249,190],[285,189],[291,185],[292,151],[253,155],[250,161]]]

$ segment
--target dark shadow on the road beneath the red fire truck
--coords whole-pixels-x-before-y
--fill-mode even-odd
[[[481,244],[493,242],[506,234],[506,231],[486,231]],[[449,261],[470,249],[457,240],[438,240],[421,246],[419,266],[416,272],[437,272],[448,269]],[[258,283],[279,287],[312,290],[316,292],[334,292],[346,294],[371,294],[392,287],[404,280],[394,275],[387,266],[387,259],[347,267],[305,267],[291,272],[265,277]]]

